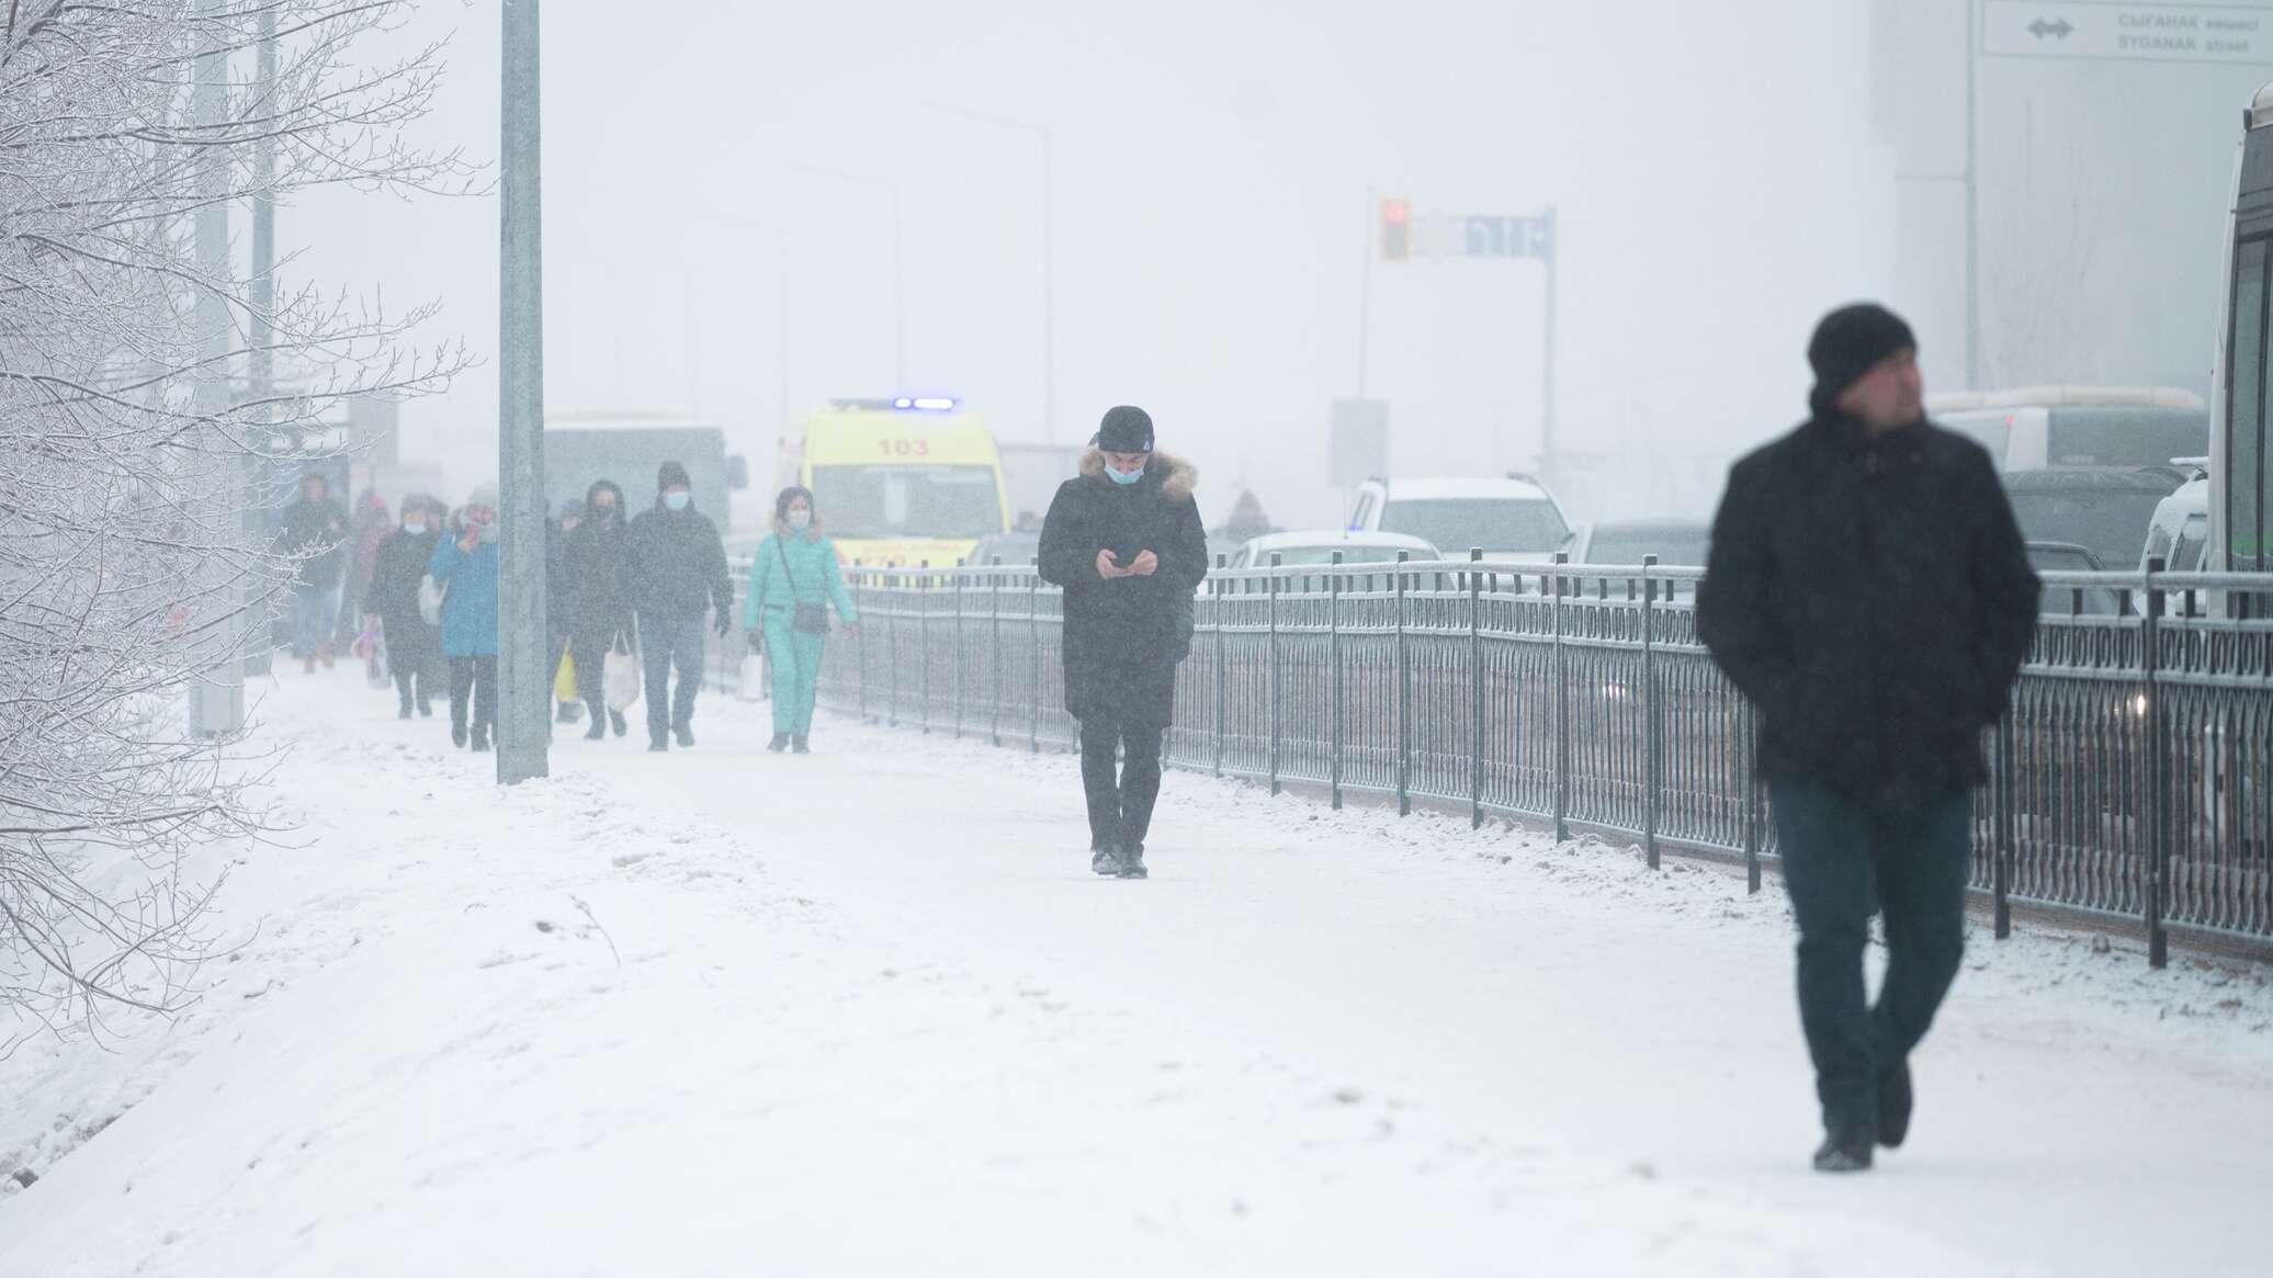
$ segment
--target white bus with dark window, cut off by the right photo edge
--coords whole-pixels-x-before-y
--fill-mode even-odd
[[[2234,202],[2225,221],[2225,277],[2216,362],[2209,380],[2209,555],[2205,569],[2273,569],[2266,509],[2266,357],[2273,325],[2273,84],[2250,100],[2234,157]],[[2253,598],[2264,598],[2255,596]],[[2250,612],[2257,612],[2255,607]]]

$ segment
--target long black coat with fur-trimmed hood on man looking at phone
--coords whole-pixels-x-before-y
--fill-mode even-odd
[[[1082,473],[1057,487],[1041,523],[1041,580],[1066,589],[1066,709],[1166,728],[1175,719],[1175,666],[1191,648],[1191,594],[1207,578],[1207,530],[1191,500],[1200,473],[1155,453],[1143,480],[1105,478],[1091,448]],[[1098,550],[1121,562],[1150,550],[1150,578],[1105,580]]]

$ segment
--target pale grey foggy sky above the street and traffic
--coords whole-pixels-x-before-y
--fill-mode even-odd
[[[1580,453],[1716,464],[1766,439],[1802,412],[1812,321],[1896,284],[1862,0],[555,0],[543,23],[548,407],[700,412],[761,484],[784,405],[830,396],[952,393],[1043,437],[1039,141],[930,102],[1052,130],[1055,434],[1146,405],[1209,518],[1239,482],[1282,523],[1337,516],[1325,418],[1357,391],[1368,184],[1559,207]],[[402,39],[452,30],[421,136],[491,159],[496,5],[430,2]],[[798,166],[900,184],[905,387],[886,198]],[[280,234],[305,273],[439,298],[432,337],[493,352],[493,198],[336,193]],[[1366,389],[1396,473],[1534,462],[1539,309],[1537,264],[1375,268]],[[486,475],[493,366],[402,421],[455,487]]]

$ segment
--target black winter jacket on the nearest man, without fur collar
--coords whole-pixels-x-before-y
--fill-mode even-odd
[[[1982,446],[1821,412],[1730,471],[1696,621],[1759,709],[1759,775],[1916,803],[1987,780],[2037,589]]]

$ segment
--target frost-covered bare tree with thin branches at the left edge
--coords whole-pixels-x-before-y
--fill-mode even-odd
[[[357,61],[407,0],[0,9],[0,1001],[68,1026],[182,1003],[216,887],[189,855],[261,828],[241,741],[180,707],[291,582],[245,518],[273,439],[464,366],[409,346],[425,309],[255,289],[195,250],[195,214],[461,191],[468,166],[402,141],[441,45]],[[250,393],[255,357],[289,391]]]

